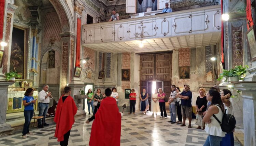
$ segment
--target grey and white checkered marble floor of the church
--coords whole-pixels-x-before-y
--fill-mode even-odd
[[[207,133],[196,129],[192,121],[192,128],[180,127],[180,124],[170,124],[160,115],[146,115],[124,113],[121,126],[121,146],[202,146]],[[70,133],[69,146],[88,146],[91,124],[86,124],[88,116],[76,119]],[[187,120],[188,122],[188,120]],[[0,146],[55,146],[59,145],[54,137],[55,124],[36,130],[30,129],[32,135],[22,139],[21,132],[0,138]],[[238,144],[236,144],[238,146]]]

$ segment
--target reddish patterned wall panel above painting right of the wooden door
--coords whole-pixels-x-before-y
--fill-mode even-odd
[[[179,49],[179,67],[190,66],[190,48]]]

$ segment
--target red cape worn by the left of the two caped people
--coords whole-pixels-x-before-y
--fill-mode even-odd
[[[62,95],[63,96],[63,95]],[[64,140],[64,134],[66,134],[75,123],[75,114],[77,111],[74,99],[68,96],[65,99],[65,103],[62,101],[62,96],[59,99],[54,122],[56,123],[55,137],[58,138],[58,142]]]

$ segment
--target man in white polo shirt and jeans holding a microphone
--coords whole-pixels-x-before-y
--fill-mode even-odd
[[[50,99],[53,98],[51,92],[47,92],[49,89],[48,85],[44,85],[43,90],[39,92],[38,94],[38,107],[39,107],[39,114],[38,116],[44,116],[44,120],[42,123],[41,118],[38,119],[38,127],[43,128],[44,126],[48,126],[49,124],[45,123],[45,116],[48,111],[48,105],[50,103]],[[43,125],[42,125],[43,124]]]

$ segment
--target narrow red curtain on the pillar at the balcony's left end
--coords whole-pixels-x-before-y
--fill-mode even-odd
[[[80,67],[81,19],[77,18],[75,66]]]

